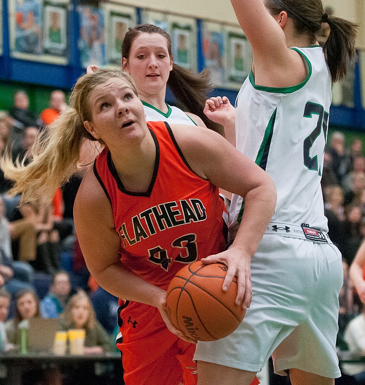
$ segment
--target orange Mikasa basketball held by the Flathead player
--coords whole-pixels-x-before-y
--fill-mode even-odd
[[[246,310],[236,305],[237,277],[222,290],[227,267],[200,261],[183,267],[167,290],[167,309],[172,323],[188,337],[214,341],[236,330]]]

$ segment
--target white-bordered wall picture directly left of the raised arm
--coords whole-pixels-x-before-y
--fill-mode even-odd
[[[252,66],[251,46],[243,34],[227,31],[227,74],[228,83],[240,88],[247,78]]]

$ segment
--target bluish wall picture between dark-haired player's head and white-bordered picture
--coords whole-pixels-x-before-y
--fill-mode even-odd
[[[204,66],[211,71],[211,80],[216,87],[226,85],[227,62],[225,30],[223,24],[204,22],[203,56]]]

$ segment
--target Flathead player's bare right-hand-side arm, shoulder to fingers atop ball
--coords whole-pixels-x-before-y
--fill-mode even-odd
[[[245,211],[236,239],[229,250],[203,259],[223,262],[228,272],[227,288],[235,276],[237,303],[249,306],[252,298],[250,261],[274,214],[276,189],[270,176],[219,134],[196,127],[171,126],[190,167],[201,177],[245,198]]]

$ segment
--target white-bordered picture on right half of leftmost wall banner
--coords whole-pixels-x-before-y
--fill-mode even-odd
[[[45,2],[43,15],[44,52],[65,56],[67,50],[67,4]]]

